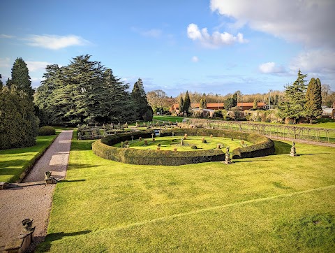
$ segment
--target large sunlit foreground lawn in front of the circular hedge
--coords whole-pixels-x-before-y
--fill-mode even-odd
[[[96,157],[75,140],[37,252],[334,252],[335,149],[185,166]]]

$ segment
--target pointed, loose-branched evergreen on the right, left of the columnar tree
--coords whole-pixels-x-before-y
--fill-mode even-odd
[[[297,80],[292,85],[285,87],[284,100],[278,107],[278,114],[280,117],[294,119],[296,123],[299,117],[306,116],[304,110],[304,105],[306,103],[306,80],[304,80],[304,78],[306,78],[306,76],[307,75],[303,75],[299,69]]]

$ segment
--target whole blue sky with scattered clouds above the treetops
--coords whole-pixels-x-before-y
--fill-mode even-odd
[[[302,73],[335,91],[334,0],[1,1],[3,82],[22,57],[38,87],[78,55],[149,92],[283,90]]]

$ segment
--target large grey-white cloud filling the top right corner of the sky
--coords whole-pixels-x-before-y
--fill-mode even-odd
[[[273,34],[306,46],[334,46],[334,0],[211,0],[211,10],[233,17],[238,27]]]

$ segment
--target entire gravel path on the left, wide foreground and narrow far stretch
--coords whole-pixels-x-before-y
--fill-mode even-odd
[[[65,178],[72,133],[72,130],[62,131],[57,136],[24,182],[43,181],[45,171],[52,171],[54,178]],[[33,252],[34,247],[44,240],[47,235],[54,187],[55,185],[34,185],[0,191],[0,252],[11,238],[20,235],[21,222],[26,218],[34,219],[33,226],[36,226],[34,244],[28,252]]]

